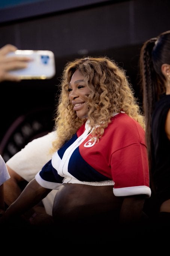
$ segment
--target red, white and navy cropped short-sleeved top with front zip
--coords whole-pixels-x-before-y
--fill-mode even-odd
[[[63,183],[113,185],[115,196],[150,197],[145,131],[140,124],[125,113],[116,114],[96,142],[88,122],[53,154],[36,181],[48,189]]]

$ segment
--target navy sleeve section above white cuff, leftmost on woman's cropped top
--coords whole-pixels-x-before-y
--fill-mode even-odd
[[[63,177],[58,175],[57,171],[52,166],[51,160],[49,160],[49,162],[43,166],[42,170],[40,171],[40,177],[43,180],[55,183],[62,183],[63,181]]]

